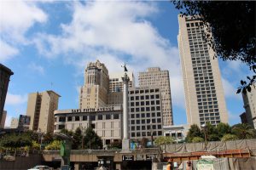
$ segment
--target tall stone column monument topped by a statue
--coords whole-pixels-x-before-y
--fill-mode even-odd
[[[127,68],[124,65],[125,75],[122,77],[124,82],[124,90],[123,90],[123,140],[122,140],[122,150],[130,149],[130,140],[129,140],[129,127],[128,127],[128,83],[130,81],[127,76]]]

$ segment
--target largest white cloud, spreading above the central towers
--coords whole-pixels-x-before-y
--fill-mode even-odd
[[[61,25],[61,35],[41,32],[34,42],[41,54],[49,58],[63,56],[65,62],[78,66],[80,73],[96,59],[105,63],[109,72],[122,71],[120,65],[124,62],[130,71],[136,72],[152,66],[167,69],[174,83],[173,103],[183,105],[178,49],[147,20],[158,12],[155,4],[76,2],[73,20]]]

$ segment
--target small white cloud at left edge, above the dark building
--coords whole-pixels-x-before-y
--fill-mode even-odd
[[[12,58],[14,55],[19,54],[19,50],[10,46],[8,43],[0,40],[0,61]]]

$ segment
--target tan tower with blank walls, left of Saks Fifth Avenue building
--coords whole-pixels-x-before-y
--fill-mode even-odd
[[[51,90],[28,95],[26,115],[31,117],[30,130],[54,132],[54,111],[58,109],[59,97],[59,94]]]

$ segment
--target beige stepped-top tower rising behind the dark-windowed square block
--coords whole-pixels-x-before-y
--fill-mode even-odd
[[[169,71],[161,71],[159,67],[148,68],[145,72],[139,72],[138,82],[140,87],[157,86],[160,88],[163,125],[173,125]]]

